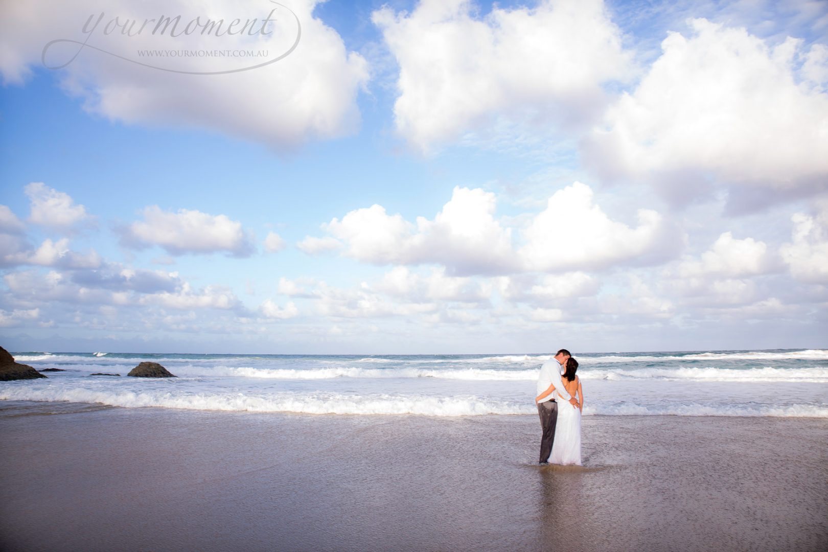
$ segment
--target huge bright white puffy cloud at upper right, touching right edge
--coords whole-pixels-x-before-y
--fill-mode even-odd
[[[708,175],[745,189],[824,190],[824,46],[805,50],[790,37],[770,46],[744,28],[690,25],[693,35],[670,33],[638,88],[609,108],[585,142],[590,164],[668,194],[698,189]]]

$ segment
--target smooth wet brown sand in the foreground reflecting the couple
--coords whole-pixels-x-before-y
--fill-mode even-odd
[[[828,548],[828,420],[0,409],[10,552]]]

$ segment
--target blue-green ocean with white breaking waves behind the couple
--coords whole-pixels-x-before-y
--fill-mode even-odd
[[[532,415],[549,354],[236,355],[18,352],[48,379],[2,401],[317,415]],[[828,349],[575,353],[584,415],[828,418]],[[176,378],[126,377],[160,362]],[[94,372],[121,377],[91,376]]]

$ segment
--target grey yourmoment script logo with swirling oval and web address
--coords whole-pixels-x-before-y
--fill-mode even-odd
[[[93,13],[79,25],[80,40],[58,38],[46,43],[41,61],[48,69],[63,69],[84,50],[93,50],[170,73],[258,69],[290,55],[301,39],[299,17],[289,7],[270,0],[262,2],[262,12],[263,17],[160,14],[143,18]],[[221,60],[220,67],[205,65],[214,60]]]

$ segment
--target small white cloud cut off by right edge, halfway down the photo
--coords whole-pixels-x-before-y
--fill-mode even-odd
[[[791,242],[780,248],[791,276],[808,284],[828,284],[828,209],[820,216],[797,213],[791,220]]]

